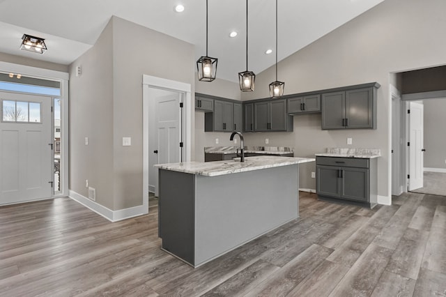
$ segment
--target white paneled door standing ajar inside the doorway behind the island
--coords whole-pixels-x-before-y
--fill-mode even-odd
[[[153,129],[149,129],[149,189],[158,195],[158,172],[153,165],[180,162],[182,93],[151,89],[153,98]]]

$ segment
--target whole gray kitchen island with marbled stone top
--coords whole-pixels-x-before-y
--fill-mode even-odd
[[[314,158],[185,162],[159,169],[162,250],[197,267],[298,218],[298,165]]]

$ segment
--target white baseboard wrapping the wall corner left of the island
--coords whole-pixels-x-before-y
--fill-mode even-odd
[[[147,204],[143,202],[144,204],[140,206],[112,211],[111,209],[98,204],[98,202],[84,197],[72,190],[69,191],[68,197],[79,202],[86,208],[90,208],[95,213],[98,213],[98,215],[102,215],[102,217],[106,218],[110,222],[118,222],[120,220],[130,219],[139,215],[146,215],[148,213],[148,201]]]

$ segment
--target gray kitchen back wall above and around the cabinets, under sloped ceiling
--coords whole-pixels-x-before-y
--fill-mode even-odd
[[[380,148],[378,195],[390,197],[390,73],[446,63],[446,40],[438,37],[441,28],[446,27],[445,10],[443,0],[386,0],[280,61],[278,78],[285,82],[286,94],[366,82],[381,84],[377,130],[321,131],[316,123],[320,116],[313,115],[310,123],[295,116],[294,132],[289,136],[295,155],[312,155],[328,146],[348,147],[347,137],[353,137],[351,147]],[[259,73],[256,91],[243,93],[243,100],[268,97],[274,71],[272,67]],[[249,144],[264,142],[264,136],[256,133],[246,138]],[[284,141],[289,142],[286,137]],[[306,176],[309,174],[308,171]],[[301,187],[314,188],[314,180],[309,179]]]

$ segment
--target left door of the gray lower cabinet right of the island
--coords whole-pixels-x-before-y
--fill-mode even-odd
[[[316,192],[318,195],[341,197],[339,167],[316,166]]]

